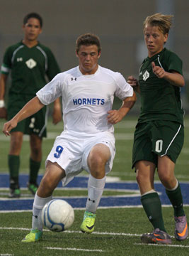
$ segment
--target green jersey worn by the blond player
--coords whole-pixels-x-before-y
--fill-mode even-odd
[[[139,70],[141,112],[139,122],[169,120],[183,124],[180,87],[157,78],[152,71],[151,62],[170,72],[175,70],[182,75],[182,60],[164,48],[151,58],[146,58]]]

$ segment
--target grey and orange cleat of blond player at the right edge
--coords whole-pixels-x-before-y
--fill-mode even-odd
[[[178,241],[183,241],[188,237],[188,224],[186,216],[174,217],[175,219],[175,238]]]

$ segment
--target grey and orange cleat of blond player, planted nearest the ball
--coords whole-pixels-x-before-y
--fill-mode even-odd
[[[171,245],[171,237],[166,232],[156,228],[153,233],[143,234],[141,237],[144,243],[156,243],[162,245]]]

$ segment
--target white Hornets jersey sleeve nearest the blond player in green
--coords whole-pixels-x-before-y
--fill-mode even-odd
[[[132,95],[133,89],[130,84],[126,82],[120,73],[117,73],[115,96],[120,100],[124,100],[126,97],[132,97]]]

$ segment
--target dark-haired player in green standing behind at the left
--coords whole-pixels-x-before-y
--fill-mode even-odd
[[[59,66],[51,50],[38,42],[42,32],[42,18],[31,13],[23,19],[23,40],[10,46],[4,54],[0,77],[0,117],[11,119],[28,100],[35,97],[49,80],[60,73]],[[11,87],[8,90],[7,112],[4,105],[4,95],[8,73],[11,71]],[[11,143],[8,154],[10,172],[10,197],[21,195],[18,182],[20,152],[23,134],[30,134],[30,176],[28,188],[35,194],[38,188],[37,178],[42,159],[42,137],[46,137],[47,110],[26,119],[11,132]],[[62,118],[59,99],[54,102],[53,123],[57,124]]]

